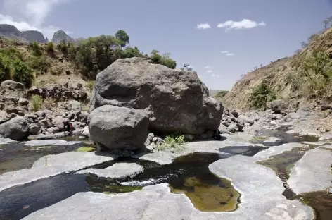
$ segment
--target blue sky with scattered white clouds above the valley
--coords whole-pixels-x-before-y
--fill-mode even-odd
[[[189,63],[212,90],[230,90],[255,66],[292,55],[328,16],[332,0],[0,0],[0,23],[49,38],[123,29],[144,53]]]

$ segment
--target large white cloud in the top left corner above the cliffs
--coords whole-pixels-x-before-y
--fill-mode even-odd
[[[14,25],[20,31],[38,30],[51,38],[60,28],[44,25],[44,20],[53,11],[54,6],[68,1],[73,0],[4,0],[0,24]]]

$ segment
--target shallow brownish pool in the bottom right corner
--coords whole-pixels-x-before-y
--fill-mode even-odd
[[[309,205],[314,209],[316,220],[331,220],[332,219],[332,194],[319,191],[312,193],[303,193],[293,197],[293,200],[300,200],[304,204]]]

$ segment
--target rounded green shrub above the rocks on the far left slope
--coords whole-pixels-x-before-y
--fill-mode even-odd
[[[13,61],[13,80],[22,82],[26,87],[30,87],[34,79],[33,70],[19,60]]]

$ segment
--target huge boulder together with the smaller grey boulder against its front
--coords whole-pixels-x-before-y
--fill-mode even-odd
[[[91,140],[117,151],[144,149],[153,142],[149,130],[211,138],[223,112],[196,72],[143,58],[120,59],[98,73],[90,104]]]

